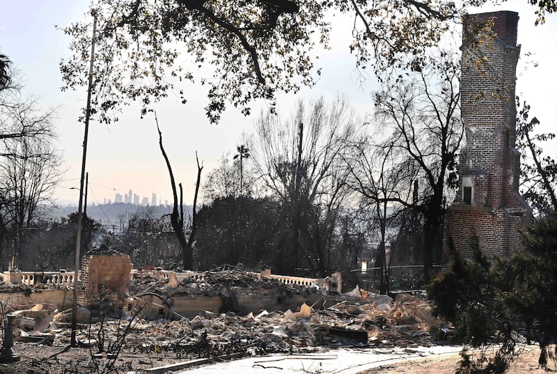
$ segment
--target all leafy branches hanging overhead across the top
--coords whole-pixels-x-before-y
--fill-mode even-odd
[[[296,93],[312,86],[320,70],[314,47],[327,47],[331,20],[339,13],[354,17],[347,49],[363,70],[391,67],[416,70],[427,48],[469,6],[487,0],[453,2],[418,0],[97,0],[86,20],[63,29],[72,37],[71,56],[61,61],[64,89],[85,86],[88,79],[92,15],[99,30],[92,114],[109,123],[122,105],[141,102],[146,111],[171,92],[187,102],[185,81],[208,86],[206,114],[218,122],[229,102],[251,111],[256,99],[274,108],[276,93]],[[556,10],[553,0],[531,0],[537,13]],[[411,61],[402,59],[411,56]],[[211,73],[200,72],[212,68]]]

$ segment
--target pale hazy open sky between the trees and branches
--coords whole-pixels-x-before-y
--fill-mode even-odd
[[[62,85],[58,63],[68,57],[69,38],[54,25],[67,26],[81,20],[88,1],[34,0],[3,1],[0,13],[0,52],[6,54],[24,77],[26,92],[38,96],[44,107],[56,107],[56,128],[59,147],[63,150],[67,169],[63,182],[56,190],[61,203],[75,203],[79,192],[81,171],[81,143],[84,127],[77,122],[80,108],[85,106],[85,92],[60,91]],[[518,42],[522,45],[517,69],[517,93],[531,104],[531,115],[537,116],[546,130],[556,131],[557,100],[557,17],[548,15],[547,22],[534,26],[534,8],[526,0],[512,0],[499,7],[484,7],[481,11],[514,10],[519,12]],[[476,13],[476,12],[471,12]],[[376,86],[372,79],[361,84],[354,71],[354,56],[350,55],[350,28],[352,19],[336,17],[331,50],[322,52],[316,65],[322,67],[317,85],[305,88],[297,97],[279,95],[278,109],[288,114],[299,98],[334,98],[344,94],[362,116],[372,110],[370,93]],[[531,63],[539,63],[533,68]],[[199,77],[197,77],[199,80]],[[178,98],[167,98],[157,105],[159,125],[163,132],[166,153],[171,159],[175,178],[185,187],[185,199],[193,200],[196,178],[195,152],[203,160],[206,174],[219,164],[223,153],[233,155],[240,145],[243,132],[251,132],[253,122],[265,102],[254,104],[253,114],[244,117],[230,108],[219,125],[210,125],[204,116],[207,104],[205,88],[188,86],[188,102],[180,104]],[[86,169],[89,173],[90,203],[102,203],[104,198],[114,199],[116,192],[125,194],[129,189],[150,201],[152,192],[157,198],[171,199],[171,188],[164,159],[159,150],[155,120],[152,116],[139,118],[139,109],[130,107],[112,125],[92,122],[89,129]]]

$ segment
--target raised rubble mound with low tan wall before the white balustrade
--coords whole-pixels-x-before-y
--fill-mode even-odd
[[[168,274],[168,277],[166,275]],[[150,319],[193,318],[203,311],[247,315],[259,310],[298,308],[313,304],[324,290],[285,284],[253,272],[237,270],[203,273],[139,274],[130,282],[130,294],[146,305]],[[140,304],[141,305],[141,304]]]

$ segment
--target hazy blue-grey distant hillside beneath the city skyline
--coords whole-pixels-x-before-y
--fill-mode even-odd
[[[185,205],[184,215],[191,215],[191,205]],[[47,208],[47,217],[52,219],[60,219],[68,217],[73,212],[77,212],[76,205],[56,206]],[[127,221],[127,217],[136,212],[146,212],[153,218],[159,218],[163,215],[169,215],[172,212],[172,205],[134,205],[131,203],[111,203],[99,205],[87,205],[87,215],[100,221],[103,225],[119,225],[120,219]]]

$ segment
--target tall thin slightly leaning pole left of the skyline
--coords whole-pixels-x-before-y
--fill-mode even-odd
[[[85,163],[87,159],[87,137],[89,133],[89,118],[91,117],[91,86],[93,85],[93,62],[95,61],[95,36],[97,33],[97,15],[93,15],[93,41],[91,42],[91,65],[89,65],[89,81],[87,87],[87,107],[85,111],[85,134],[83,139],[83,157],[81,159],[81,182],[79,185],[79,205],[77,208],[77,238],[75,242],[75,270],[74,270],[74,297],[72,305],[72,347],[77,347],[77,276],[79,276],[79,250],[81,247],[81,207],[83,205],[83,187],[85,177]]]

